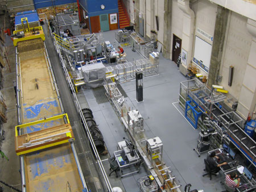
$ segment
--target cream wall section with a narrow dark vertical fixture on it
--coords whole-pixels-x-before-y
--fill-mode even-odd
[[[241,86],[251,47],[251,35],[246,28],[247,18],[232,12],[228,39],[224,47],[224,61],[220,70],[221,85],[236,99],[240,96]],[[232,86],[228,86],[229,66],[234,66]]]

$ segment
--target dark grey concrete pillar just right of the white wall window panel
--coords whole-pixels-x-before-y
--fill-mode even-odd
[[[212,55],[210,57],[210,68],[207,81],[207,85],[209,87],[217,84],[217,77],[220,72],[228,18],[229,10],[218,6],[212,44]]]

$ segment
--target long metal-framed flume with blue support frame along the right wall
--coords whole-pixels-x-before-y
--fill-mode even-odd
[[[193,80],[180,82],[179,105],[185,110],[185,116],[193,125],[198,123],[201,130],[207,127],[214,128],[220,145],[224,140],[232,141],[234,146],[256,166],[256,142],[251,139],[245,131],[243,124],[245,120],[235,111],[226,111],[224,106],[225,96],[214,93],[196,78]],[[191,110],[197,110],[200,114],[189,113],[188,103],[193,103]],[[196,114],[196,115],[195,115]],[[207,123],[199,116],[204,115],[208,118]]]

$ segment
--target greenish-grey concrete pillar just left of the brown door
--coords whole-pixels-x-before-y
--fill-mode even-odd
[[[163,56],[166,59],[170,59],[171,57],[171,11],[172,1],[164,0]]]

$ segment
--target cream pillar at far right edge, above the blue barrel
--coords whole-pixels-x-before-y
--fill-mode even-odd
[[[245,75],[243,76],[243,84],[241,87],[240,97],[238,100],[237,112],[247,118],[250,112],[256,112],[256,21],[247,20],[247,30],[253,36],[251,41],[251,48],[247,65],[245,69]]]

